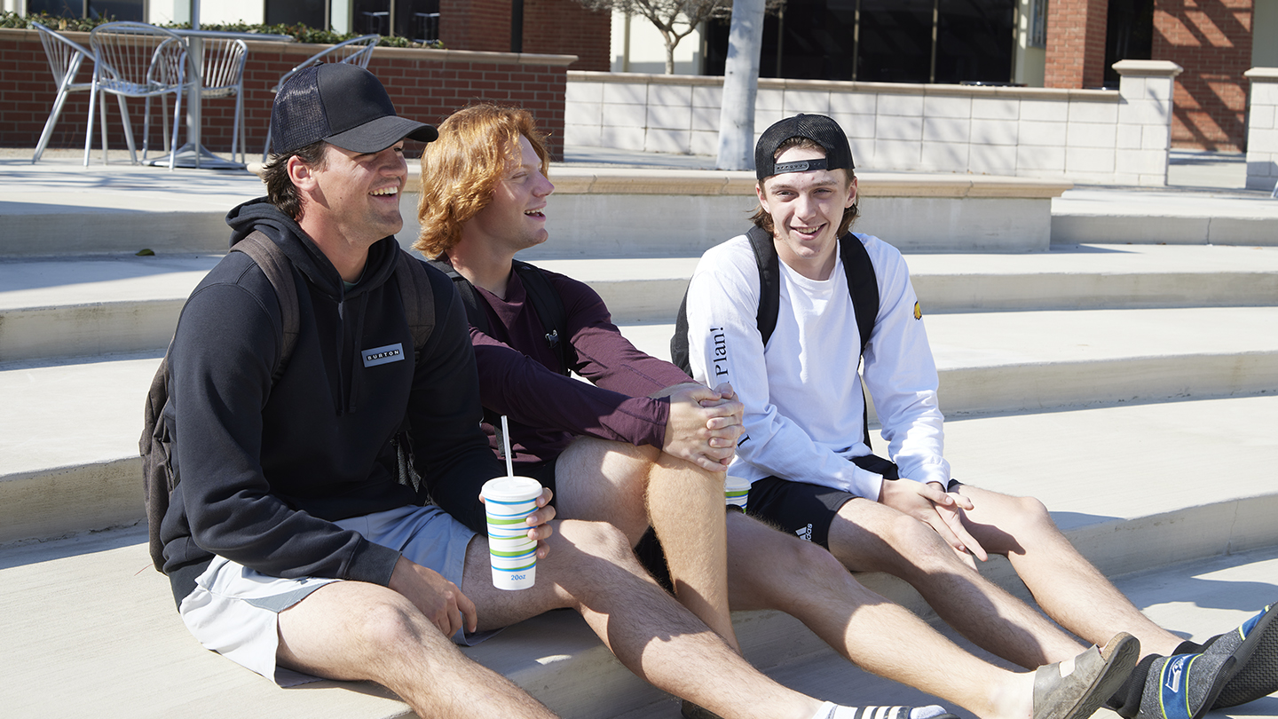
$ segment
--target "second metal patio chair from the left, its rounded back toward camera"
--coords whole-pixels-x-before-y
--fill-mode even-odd
[[[167,113],[164,118],[165,150],[169,169],[174,168],[178,151],[178,127],[181,124],[181,96],[190,87],[187,81],[187,42],[178,35],[155,26],[134,22],[116,22],[97,26],[89,33],[93,49],[93,88],[88,101],[88,124],[93,127],[93,111],[98,99],[115,95],[120,104],[124,138],[129,145],[129,159],[138,161],[129,123],[127,97],[146,99],[142,123],[142,159],[147,157],[151,134],[151,99],[174,95],[173,136],[169,134]],[[106,164],[106,107],[102,107],[102,164]],[[92,130],[84,137],[84,166],[88,166]]]

